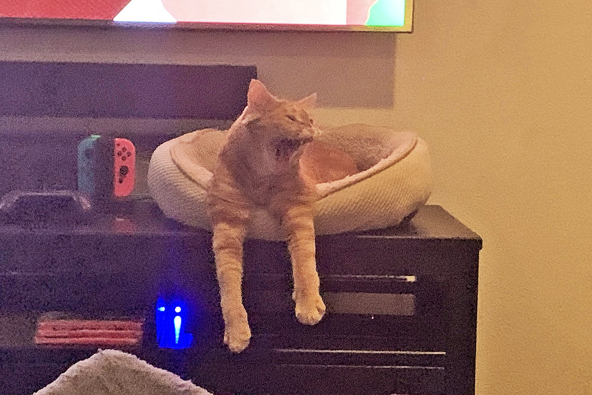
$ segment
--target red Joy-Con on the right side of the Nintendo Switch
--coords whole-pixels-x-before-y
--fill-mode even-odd
[[[113,193],[128,196],[136,183],[136,147],[128,139],[114,139]]]

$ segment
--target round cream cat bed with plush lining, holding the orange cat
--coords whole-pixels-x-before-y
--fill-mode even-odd
[[[152,154],[148,185],[166,216],[211,229],[205,197],[225,133],[197,130],[161,144]],[[426,203],[432,169],[426,143],[416,134],[350,124],[325,129],[318,140],[348,152],[361,171],[317,184],[317,235],[394,226]],[[283,238],[279,223],[265,210],[253,213],[247,237]]]

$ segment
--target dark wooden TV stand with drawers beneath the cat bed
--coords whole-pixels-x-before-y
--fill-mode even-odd
[[[0,393],[31,394],[96,347],[34,345],[46,311],[146,319],[140,358],[215,394],[474,394],[481,239],[442,207],[398,227],[317,237],[328,312],[300,325],[284,243],[245,247],[253,339],[221,344],[210,234],[136,208],[85,224],[0,225]],[[155,341],[155,303],[184,297],[191,348]]]

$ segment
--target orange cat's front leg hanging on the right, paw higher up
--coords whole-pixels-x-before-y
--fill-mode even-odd
[[[313,212],[309,207],[288,208],[282,216],[294,277],[295,313],[298,321],[314,325],[323,318],[325,304],[319,293],[314,245]]]

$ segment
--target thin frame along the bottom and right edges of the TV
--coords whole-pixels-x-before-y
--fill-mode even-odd
[[[157,30],[210,30],[210,31],[301,31],[301,32],[391,32],[413,33],[414,0],[405,2],[405,24],[403,26],[366,25],[297,25],[297,24],[250,24],[250,23],[152,23],[115,22],[96,19],[54,19],[54,18],[12,18],[0,17],[0,27],[40,26],[40,27],[98,27],[98,28],[148,28]]]

